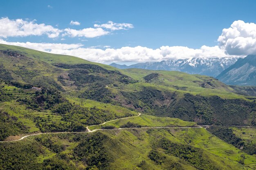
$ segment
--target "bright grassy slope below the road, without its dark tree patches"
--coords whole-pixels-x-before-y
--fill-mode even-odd
[[[77,134],[77,135],[41,135],[38,137],[29,137],[24,141],[15,142],[12,144],[0,144],[0,148],[8,150],[9,147],[18,148],[18,145],[22,145],[24,148],[22,150],[17,150],[16,155],[23,155],[27,151],[26,147],[31,147],[28,144],[34,143],[38,148],[45,150],[44,152],[39,153],[34,159],[28,160],[27,164],[31,161],[36,161],[37,163],[42,163],[43,160],[54,158],[58,156],[58,159],[63,160],[64,162],[72,161],[73,165],[76,165],[76,168],[80,165],[86,166],[86,162],[83,159],[74,157],[74,149],[79,149],[79,144],[83,143],[83,140],[92,137],[97,139],[97,136],[105,136],[103,139],[103,144],[101,147],[105,152],[105,156],[109,159],[107,164],[102,161],[101,164],[106,165],[108,168],[103,169],[115,169],[115,170],[164,170],[171,169],[172,166],[178,168],[179,170],[196,170],[196,167],[193,167],[193,164],[175,157],[173,155],[168,155],[165,150],[163,150],[158,141],[162,138],[168,139],[178,145],[190,145],[196,148],[201,148],[202,156],[204,159],[208,160],[209,163],[213,163],[214,166],[218,169],[225,170],[253,170],[256,168],[256,157],[247,155],[243,152],[240,152],[239,149],[226,144],[217,137],[211,135],[205,129],[137,129],[137,130],[109,130],[101,132],[93,132],[90,134]],[[54,141],[54,144],[59,146],[65,146],[60,152],[55,152],[50,146],[42,146],[42,143],[36,142],[35,139],[44,139],[49,138],[51,141]],[[75,140],[75,141],[74,141]],[[90,144],[88,144],[90,146]],[[56,146],[56,145],[55,145]],[[95,146],[97,147],[97,146]],[[83,150],[87,150],[83,148]],[[163,162],[157,164],[154,161],[150,160],[148,154],[151,150],[157,150],[160,155],[164,156]],[[87,150],[89,153],[92,152],[90,147]],[[100,151],[98,151],[100,152]],[[14,154],[14,153],[11,153]],[[95,155],[94,159],[101,157],[103,155]],[[4,157],[0,155],[1,159]],[[6,156],[6,155],[5,155]],[[11,155],[8,155],[11,156]],[[96,156],[96,157],[95,157]],[[241,165],[238,161],[241,157],[245,157],[245,165]],[[2,159],[4,160],[4,159]],[[107,160],[106,160],[107,161]],[[11,163],[11,162],[10,162]],[[19,161],[16,162],[16,165],[19,165]],[[38,164],[40,165],[40,164]],[[51,165],[52,166],[52,165]],[[98,166],[96,164],[96,166]],[[36,166],[37,167],[37,166]],[[40,166],[38,166],[40,167]],[[78,169],[78,168],[77,168]],[[102,169],[102,168],[99,168]]]

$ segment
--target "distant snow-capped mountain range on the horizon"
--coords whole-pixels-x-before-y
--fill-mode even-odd
[[[178,60],[163,60],[162,62],[138,63],[130,66],[112,63],[116,68],[143,68],[148,70],[182,71],[189,74],[209,75],[216,77],[229,66],[233,65],[238,57],[221,58],[187,58]]]

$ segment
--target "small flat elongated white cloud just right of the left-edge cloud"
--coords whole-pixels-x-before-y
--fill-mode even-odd
[[[107,35],[110,33],[109,31],[105,31],[102,28],[86,28],[86,29],[64,29],[65,33],[63,36],[70,36],[70,37],[85,37],[85,38],[95,38],[102,35]]]

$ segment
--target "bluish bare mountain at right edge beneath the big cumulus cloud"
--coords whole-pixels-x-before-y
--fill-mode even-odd
[[[217,78],[226,84],[256,86],[256,55],[238,59]]]

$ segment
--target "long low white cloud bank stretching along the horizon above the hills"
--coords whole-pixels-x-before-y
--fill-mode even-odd
[[[191,49],[184,46],[161,46],[158,49],[147,47],[125,46],[120,49],[96,49],[99,46],[84,48],[82,44],[54,44],[54,43],[21,43],[6,42],[2,44],[24,46],[31,49],[46,51],[56,54],[73,55],[92,62],[150,62],[188,57],[224,57],[224,51],[218,46],[202,46],[200,49]]]

